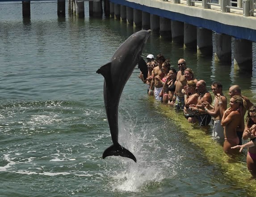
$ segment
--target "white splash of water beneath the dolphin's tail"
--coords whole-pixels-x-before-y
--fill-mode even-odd
[[[119,143],[134,154],[137,163],[125,157],[107,157],[106,162],[110,163],[107,168],[110,169],[106,173],[113,191],[139,192],[147,185],[159,184],[165,178],[175,176],[171,166],[173,159],[159,157],[164,145],[159,143],[155,132],[157,129],[153,124],[138,123],[137,118],[134,121],[119,118]],[[171,168],[172,172],[167,173],[167,168]]]

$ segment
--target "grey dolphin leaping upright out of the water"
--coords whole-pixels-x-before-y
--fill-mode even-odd
[[[103,159],[106,156],[123,156],[136,162],[135,156],[118,143],[118,105],[122,90],[137,64],[144,79],[147,78],[147,64],[141,54],[150,34],[151,30],[132,34],[118,47],[110,62],[97,70],[104,77],[104,103],[113,141],[113,145],[103,152]]]

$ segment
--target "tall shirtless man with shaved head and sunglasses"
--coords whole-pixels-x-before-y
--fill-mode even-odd
[[[176,106],[177,109],[184,109],[184,94],[182,93],[182,89],[186,86],[186,78],[184,76],[184,71],[187,68],[185,59],[178,60],[179,71],[177,72],[176,77],[176,87],[174,96],[172,98],[171,106]]]

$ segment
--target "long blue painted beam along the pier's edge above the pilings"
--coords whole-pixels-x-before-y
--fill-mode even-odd
[[[188,24],[195,25],[197,27],[210,29],[217,33],[225,33],[227,35],[230,35],[239,39],[246,39],[246,40],[256,42],[255,29],[249,29],[249,28],[233,26],[233,25],[226,25],[226,24],[219,23],[217,21],[211,21],[211,20],[207,20],[207,19],[199,18],[195,16],[188,16],[182,13],[171,12],[171,11],[163,10],[159,8],[148,7],[145,5],[136,4],[134,2],[130,2],[126,0],[109,0],[109,1],[115,4],[125,5],[130,8],[139,9],[139,10],[142,10],[143,12],[149,12],[151,14],[169,18],[174,21],[186,22]]]

